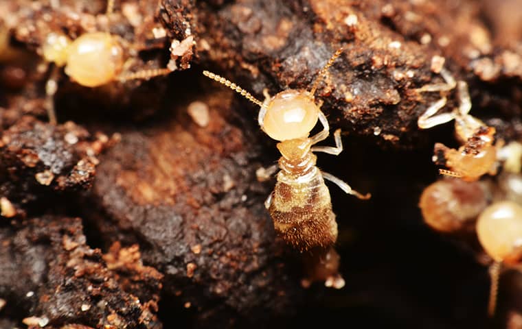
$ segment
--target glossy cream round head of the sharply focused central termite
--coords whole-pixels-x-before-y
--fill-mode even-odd
[[[268,103],[263,130],[276,141],[306,138],[319,119],[319,107],[303,90],[285,90]]]

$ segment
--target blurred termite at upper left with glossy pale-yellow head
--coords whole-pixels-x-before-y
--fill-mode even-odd
[[[114,0],[109,0],[106,14],[112,14],[113,8]],[[53,98],[58,88],[59,69],[62,67],[71,80],[87,87],[98,87],[114,81],[148,80],[172,72],[168,68],[128,71],[127,67],[133,61],[130,54],[133,50],[133,45],[109,32],[87,32],[74,40],[61,32],[47,34],[42,45],[42,56],[45,62],[54,64],[45,86],[49,121],[56,124]]]

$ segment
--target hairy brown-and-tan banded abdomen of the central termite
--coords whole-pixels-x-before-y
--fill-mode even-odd
[[[277,234],[296,249],[328,247],[337,240],[330,193],[315,166],[304,175],[280,171],[269,212]]]

